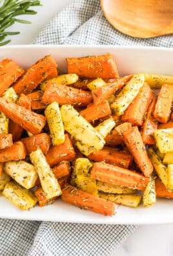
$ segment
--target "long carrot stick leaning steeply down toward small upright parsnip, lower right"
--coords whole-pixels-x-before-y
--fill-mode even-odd
[[[123,133],[123,139],[141,172],[143,172],[145,176],[150,176],[153,171],[153,166],[147,155],[147,150],[145,149],[137,126],[125,131]]]

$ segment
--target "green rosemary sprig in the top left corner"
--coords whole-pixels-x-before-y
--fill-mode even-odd
[[[8,27],[12,26],[15,22],[31,23],[30,21],[16,18],[16,16],[23,14],[37,14],[36,11],[29,10],[30,6],[41,6],[41,3],[39,0],[4,0],[3,4],[0,3],[0,46],[10,43],[11,40],[5,41],[6,36],[20,33],[6,31]]]

